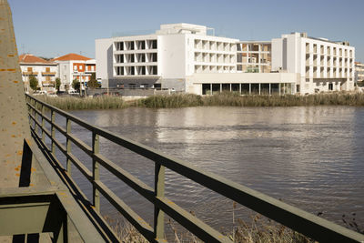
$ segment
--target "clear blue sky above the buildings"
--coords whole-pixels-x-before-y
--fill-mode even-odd
[[[364,0],[8,0],[19,53],[95,57],[95,39],[161,24],[215,28],[216,35],[270,40],[290,32],[348,40],[364,62]]]

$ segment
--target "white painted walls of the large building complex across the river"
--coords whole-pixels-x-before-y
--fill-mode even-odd
[[[157,40],[157,49],[148,47],[147,43],[150,40]],[[139,49],[136,47],[140,41],[146,43],[146,48]],[[134,43],[135,48],[116,50],[116,45],[120,42],[123,42],[123,45],[124,43],[126,45],[126,42]],[[206,26],[185,23],[161,25],[160,30],[157,30],[156,34],[153,35],[97,39],[97,78],[103,80],[122,78],[123,82],[137,78],[155,78],[157,83],[162,84],[162,87],[168,88],[175,85],[181,87],[179,83],[186,82],[185,91],[193,93],[196,92],[196,87],[190,83],[191,80],[195,83],[203,83],[215,79],[214,82],[224,83],[231,82],[230,79],[235,78],[239,80],[237,82],[245,82],[248,77],[252,78],[252,82],[257,83],[287,83],[287,78],[290,78],[296,82],[301,94],[328,91],[329,86],[333,86],[333,90],[352,90],[353,88],[355,48],[352,46],[329,42],[326,39],[310,38],[302,33],[281,35],[280,38],[274,38],[271,41],[271,69],[279,72],[279,74],[266,73],[257,76],[257,74],[238,72],[238,43],[242,42],[239,42],[238,39],[207,35]],[[308,53],[306,51],[307,44],[310,50]],[[323,46],[322,58],[324,59],[322,62],[318,58],[314,59],[314,45],[318,46],[319,51]],[[328,54],[328,48],[330,54]],[[343,61],[341,65],[338,63],[334,65],[333,63],[334,48],[337,48],[338,52],[342,50],[340,58],[343,58]],[[344,55],[345,50],[347,56]],[[110,51],[112,51],[112,55],[110,55]],[[349,52],[352,53],[350,57]],[[148,56],[151,53],[157,53],[157,61],[150,61],[146,57],[145,62],[136,62],[136,56]],[[130,61],[130,59],[124,63],[116,62],[115,56],[121,55],[124,58],[134,56],[135,60]],[[306,59],[307,56],[308,60]],[[318,53],[317,56],[321,56],[321,54]],[[344,60],[347,60],[345,64]],[[136,70],[142,70],[140,66],[144,66],[147,71],[145,73],[136,72]],[[151,66],[157,66],[157,74],[151,74],[148,71]],[[120,68],[123,72],[120,71]],[[131,72],[131,68],[134,68],[134,74]],[[314,72],[317,68],[319,72]],[[116,70],[119,75],[116,75]],[[126,72],[126,70],[128,71]],[[206,74],[209,77],[199,74]],[[232,74],[235,75],[230,76]],[[191,76],[193,76],[192,79]],[[294,76],[294,78],[290,76]],[[201,79],[198,81],[196,78]],[[281,79],[279,80],[279,78]]]

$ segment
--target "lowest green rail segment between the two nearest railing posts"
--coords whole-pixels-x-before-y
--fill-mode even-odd
[[[126,203],[116,196],[116,194],[107,188],[104,183],[99,180],[94,181],[94,185],[104,197],[148,240],[154,240],[153,228],[147,222],[140,218],[133,209],[128,207]]]

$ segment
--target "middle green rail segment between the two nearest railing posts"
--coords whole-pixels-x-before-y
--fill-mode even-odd
[[[104,157],[100,154],[96,154],[96,155],[94,155],[94,158],[103,167],[106,167],[106,169],[108,171],[110,171],[116,177],[118,177],[119,179],[124,181],[126,183],[126,185],[135,189],[136,192],[138,192],[143,197],[146,197],[147,200],[149,200],[151,202],[154,201],[154,189],[152,187],[147,186],[147,184],[145,184],[143,181],[132,176],[130,173],[128,173],[126,170],[122,169],[121,167],[118,167],[115,163],[113,163],[111,160],[109,160],[106,157]]]

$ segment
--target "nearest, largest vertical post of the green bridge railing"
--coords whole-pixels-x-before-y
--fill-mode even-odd
[[[156,162],[155,168],[155,197],[165,197],[165,170]],[[154,233],[157,239],[165,238],[165,213],[154,207]]]

